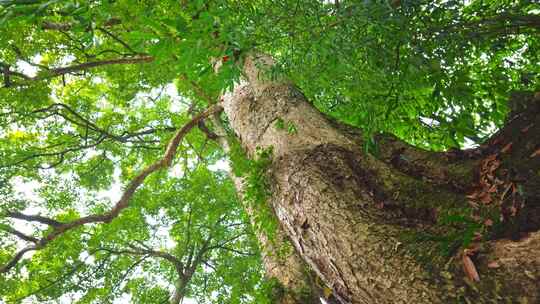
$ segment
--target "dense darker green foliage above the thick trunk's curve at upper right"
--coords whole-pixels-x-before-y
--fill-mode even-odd
[[[534,1],[388,2],[236,8],[309,100],[367,137],[434,150],[481,143],[503,123],[510,91],[538,89]]]

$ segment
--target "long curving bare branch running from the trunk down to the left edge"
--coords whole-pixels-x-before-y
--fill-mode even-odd
[[[66,233],[69,230],[72,230],[74,228],[90,224],[90,223],[109,223],[118,215],[122,210],[129,207],[129,202],[137,188],[144,182],[146,177],[148,177],[150,174],[159,171],[164,168],[168,168],[172,165],[172,161],[174,159],[174,156],[176,154],[176,149],[178,148],[178,145],[184,138],[184,136],[191,130],[193,127],[196,127],[198,122],[205,119],[209,115],[221,111],[222,108],[218,105],[213,105],[210,108],[208,108],[206,111],[199,113],[191,121],[189,121],[187,124],[185,124],[181,129],[179,129],[172,140],[169,142],[169,145],[167,146],[167,149],[165,150],[165,153],[163,157],[157,161],[155,161],[153,164],[149,165],[145,169],[143,169],[131,182],[128,184],[126,189],[124,190],[124,193],[118,200],[118,202],[114,205],[114,207],[109,210],[108,212],[102,213],[102,214],[93,214],[85,217],[81,217],[77,220],[73,220],[70,222],[61,223],[58,226],[52,226],[53,229],[46,234],[43,238],[39,240],[39,242],[34,246],[25,247],[19,252],[15,254],[15,256],[3,267],[0,268],[0,273],[5,273],[9,271],[11,268],[13,268],[18,261],[23,257],[23,255],[28,251],[34,251],[44,248],[49,242],[56,239],[58,236]],[[18,217],[21,218],[21,217]],[[35,216],[33,216],[35,218]],[[24,218],[21,218],[24,219]],[[31,219],[29,219],[31,220]],[[41,221],[42,222],[42,221]]]

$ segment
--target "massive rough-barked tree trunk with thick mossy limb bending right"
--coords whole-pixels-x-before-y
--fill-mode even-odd
[[[478,149],[433,153],[380,136],[375,156],[358,130],[260,72],[271,64],[248,57],[224,110],[248,155],[272,147],[271,204],[339,301],[540,301],[538,94],[518,97],[527,111]]]

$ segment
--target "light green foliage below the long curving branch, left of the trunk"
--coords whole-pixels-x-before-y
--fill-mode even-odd
[[[40,193],[59,198],[68,189],[45,186]],[[63,204],[69,199],[74,197],[66,196]],[[223,173],[197,166],[181,178],[152,180],[132,203],[133,208],[111,223],[77,229],[37,252],[23,264],[28,275],[0,280],[1,295],[17,302],[32,294],[45,301],[80,293],[77,303],[101,303],[127,294],[133,303],[162,303],[170,296],[168,284],[178,279],[174,266],[157,257],[111,250],[167,251],[189,265],[189,256],[208,240],[207,246],[215,249],[195,264],[187,297],[199,303],[246,303],[262,292],[256,241]],[[57,215],[58,220],[77,217],[73,211]],[[7,259],[6,249],[3,246],[2,262]],[[217,296],[208,297],[210,293]]]

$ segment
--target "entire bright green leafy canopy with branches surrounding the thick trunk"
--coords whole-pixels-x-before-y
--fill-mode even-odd
[[[540,89],[539,29],[527,0],[0,1],[0,301],[274,303],[268,151],[219,143],[246,56],[362,153],[386,133],[451,151]]]

